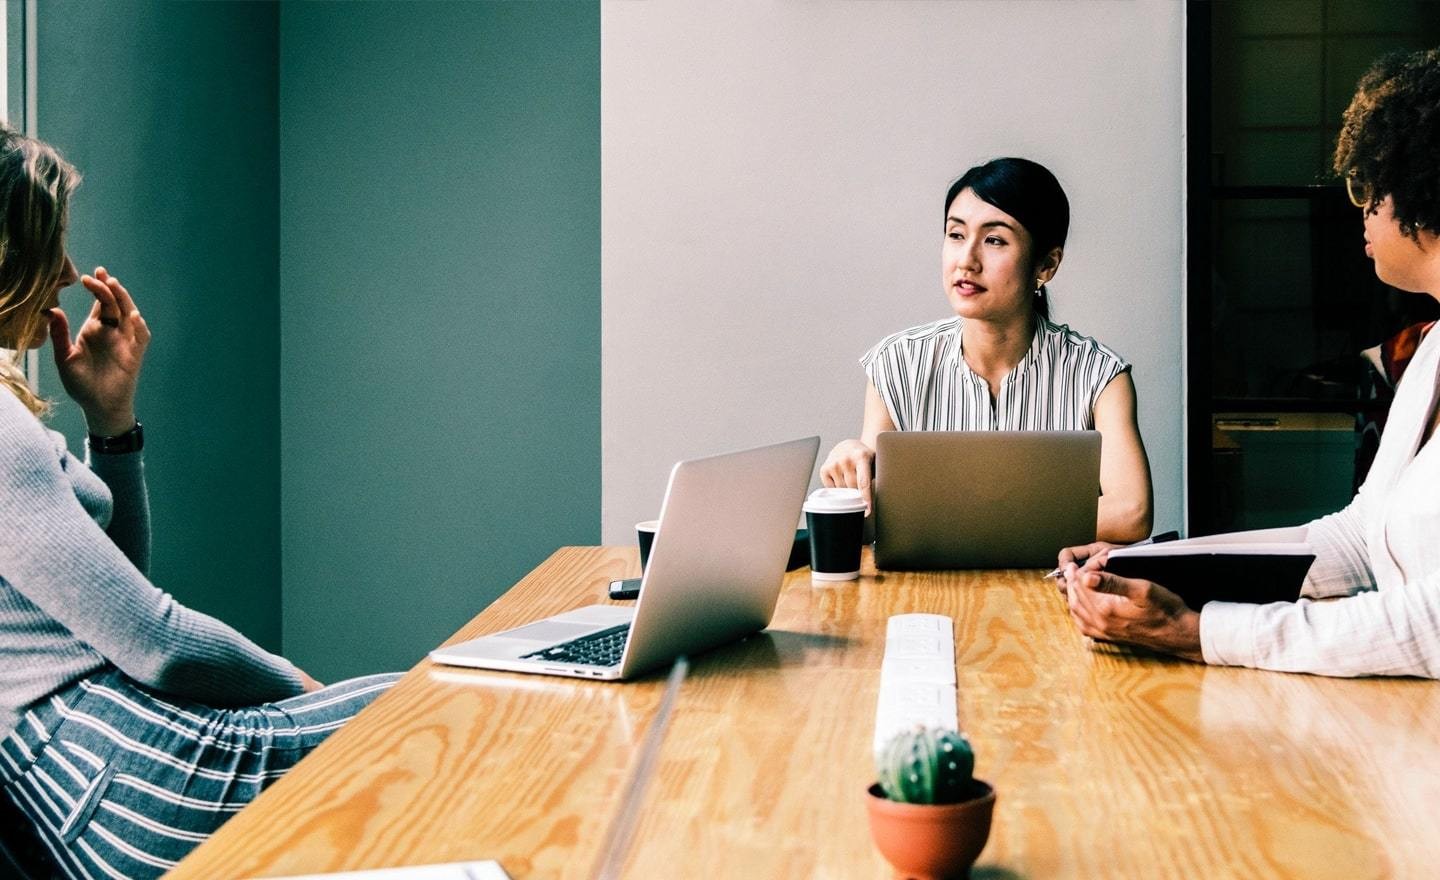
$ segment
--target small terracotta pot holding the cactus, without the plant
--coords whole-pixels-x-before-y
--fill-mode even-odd
[[[984,794],[960,804],[901,804],[871,785],[865,805],[880,854],[906,877],[968,877],[989,838],[995,809],[995,789],[979,779],[975,785]]]

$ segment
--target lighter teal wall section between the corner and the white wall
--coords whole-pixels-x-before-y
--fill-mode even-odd
[[[279,35],[284,644],[333,680],[599,540],[599,7]]]

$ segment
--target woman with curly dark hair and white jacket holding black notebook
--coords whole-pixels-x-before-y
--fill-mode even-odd
[[[1361,78],[1335,171],[1364,213],[1380,279],[1440,300],[1440,49],[1384,58]],[[1437,429],[1440,333],[1431,333],[1355,500],[1309,524],[1316,559],[1305,598],[1197,612],[1158,583],[1104,572],[1107,544],[1090,544],[1061,553],[1071,616],[1086,635],[1211,664],[1440,678]]]

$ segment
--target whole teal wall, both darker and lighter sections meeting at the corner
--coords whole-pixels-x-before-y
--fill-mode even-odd
[[[599,540],[598,4],[49,0],[39,33],[71,252],[154,331],[158,586],[334,680]]]

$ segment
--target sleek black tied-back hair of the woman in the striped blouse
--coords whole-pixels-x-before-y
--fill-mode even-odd
[[[1020,220],[1034,242],[1037,261],[1056,248],[1066,246],[1066,235],[1070,232],[1070,199],[1050,169],[1038,161],[1004,157],[975,166],[945,193],[942,223],[949,216],[950,203],[966,189]],[[1035,292],[1035,311],[1040,317],[1050,318],[1050,297],[1045,288]]]

